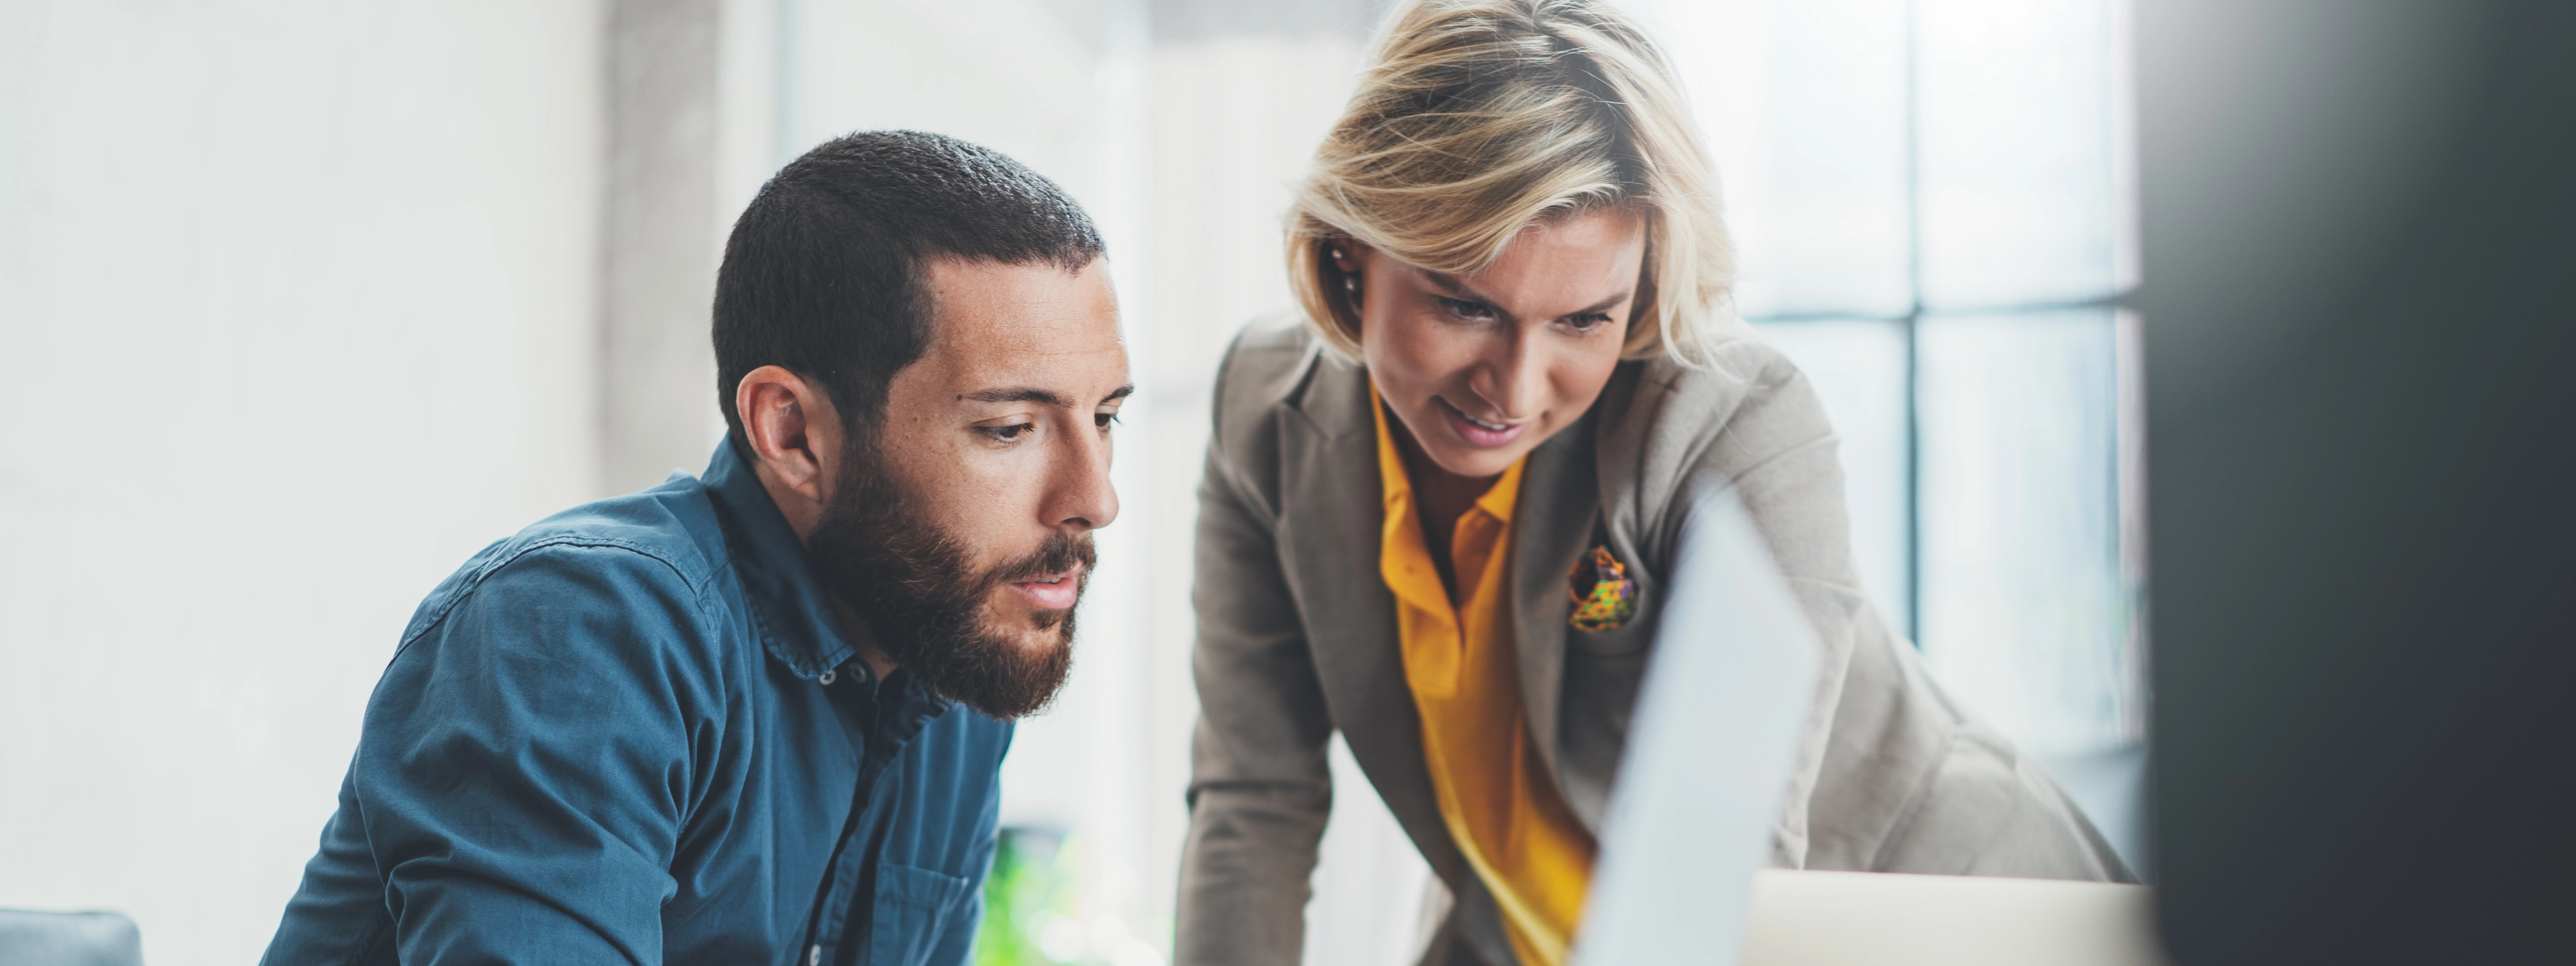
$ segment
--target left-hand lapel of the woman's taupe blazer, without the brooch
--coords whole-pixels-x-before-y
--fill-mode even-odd
[[[1368,374],[1319,353],[1314,376],[1288,397],[1280,446],[1280,556],[1306,621],[1306,649],[1332,724],[1378,786],[1386,809],[1450,889],[1466,860],[1450,842],[1422,760],[1422,716],[1404,683],[1396,598],[1378,577],[1386,489],[1368,412]]]

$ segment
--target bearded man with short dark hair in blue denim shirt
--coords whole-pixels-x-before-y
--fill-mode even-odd
[[[446,580],[265,963],[961,963],[1010,719],[1072,662],[1128,394],[1090,216],[853,134],[716,276],[703,477]]]

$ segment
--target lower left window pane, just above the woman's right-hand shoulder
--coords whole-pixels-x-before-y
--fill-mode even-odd
[[[1914,634],[1906,556],[1906,330],[1886,319],[1770,322],[1767,335],[1816,384],[1842,435],[1852,567],[1888,626]]]

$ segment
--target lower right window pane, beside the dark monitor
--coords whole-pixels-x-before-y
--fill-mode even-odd
[[[1917,337],[1924,657],[2035,755],[2130,739],[2110,312],[1929,317]]]

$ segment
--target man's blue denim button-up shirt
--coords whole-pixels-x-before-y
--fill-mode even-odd
[[[868,675],[729,440],[420,603],[263,963],[963,963],[1010,734]]]

